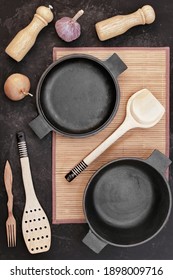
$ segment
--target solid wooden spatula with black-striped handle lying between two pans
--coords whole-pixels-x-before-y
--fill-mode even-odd
[[[86,156],[76,165],[66,176],[66,180],[71,182],[89,164],[99,157],[124,133],[132,128],[149,128],[156,125],[165,112],[164,107],[147,89],[142,89],[133,94],[127,103],[126,117],[119,128],[104,140],[94,151]]]

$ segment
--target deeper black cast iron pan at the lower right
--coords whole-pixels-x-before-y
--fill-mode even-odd
[[[107,244],[142,244],[163,228],[172,197],[164,173],[171,161],[158,150],[147,160],[112,161],[91,178],[84,194],[90,231],[83,242],[96,253]]]

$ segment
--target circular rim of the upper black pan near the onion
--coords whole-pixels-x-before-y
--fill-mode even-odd
[[[42,83],[43,81],[46,79],[47,74],[59,63],[69,60],[69,59],[73,59],[73,58],[86,58],[88,60],[91,61],[95,61],[96,63],[98,63],[99,65],[101,65],[102,67],[104,67],[106,69],[106,71],[109,73],[110,77],[112,78],[112,81],[115,85],[115,94],[116,94],[116,102],[114,105],[114,109],[110,115],[110,117],[104,122],[104,124],[102,124],[101,126],[99,126],[98,128],[91,130],[89,132],[86,133],[70,133],[70,132],[65,132],[62,131],[58,128],[56,128],[49,120],[48,118],[45,116],[44,111],[41,107],[40,104],[40,94],[41,94],[41,87],[42,87]],[[112,72],[110,71],[110,69],[104,64],[104,61],[102,61],[101,59],[94,57],[92,55],[88,55],[88,54],[72,54],[72,55],[66,55],[63,56],[62,58],[59,58],[58,60],[54,61],[53,63],[51,63],[46,70],[42,73],[39,82],[37,84],[37,88],[36,88],[36,105],[37,105],[37,109],[39,112],[39,115],[41,115],[44,118],[44,121],[51,127],[51,130],[58,132],[62,135],[65,136],[69,136],[72,138],[84,138],[87,136],[92,136],[97,134],[99,131],[102,131],[104,128],[106,128],[109,123],[113,120],[113,118],[115,117],[118,108],[119,108],[119,104],[120,104],[120,88],[119,88],[119,84],[118,84],[118,80],[117,77],[114,77]]]

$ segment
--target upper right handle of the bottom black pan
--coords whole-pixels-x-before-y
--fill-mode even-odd
[[[154,152],[145,161],[162,174],[165,174],[166,169],[172,162],[167,156],[158,150],[154,150]]]

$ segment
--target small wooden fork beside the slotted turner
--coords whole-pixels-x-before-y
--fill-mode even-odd
[[[12,194],[12,170],[11,166],[7,160],[4,169],[4,183],[8,195],[8,219],[6,221],[6,233],[7,233],[7,243],[8,247],[16,246],[16,220],[13,216],[13,194]]]

